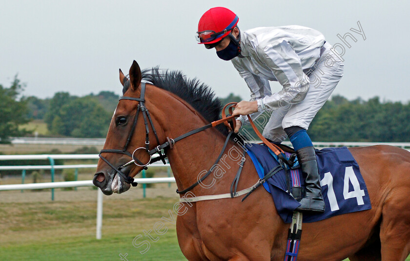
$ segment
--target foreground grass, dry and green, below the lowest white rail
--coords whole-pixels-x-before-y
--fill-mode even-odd
[[[29,194],[29,193],[27,193]],[[94,200],[94,199],[93,199]],[[33,261],[72,260],[184,260],[175,225],[139,253],[133,240],[168,216],[176,198],[105,200],[102,240],[95,239],[96,202],[1,203],[0,259]],[[154,234],[155,235],[155,234]],[[143,238],[139,238],[140,243]]]

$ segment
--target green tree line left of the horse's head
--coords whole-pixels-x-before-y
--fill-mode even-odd
[[[53,137],[103,138],[119,98],[114,92],[101,91],[84,97],[57,92],[53,98],[40,99],[21,96],[23,90],[17,76],[10,87],[0,85],[1,143],[30,135],[32,131],[19,127],[30,120],[43,120]]]

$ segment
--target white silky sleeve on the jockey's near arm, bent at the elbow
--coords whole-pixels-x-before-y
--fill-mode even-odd
[[[303,72],[301,60],[286,40],[258,46],[258,56],[270,68],[283,89],[272,95],[266,95],[262,107],[275,110],[305,99],[309,89],[308,77]],[[260,102],[260,101],[259,101]]]

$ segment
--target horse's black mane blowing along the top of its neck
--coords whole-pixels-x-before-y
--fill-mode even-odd
[[[142,80],[148,81],[185,100],[201,113],[205,120],[212,122],[220,119],[221,101],[209,86],[200,82],[197,78],[187,79],[181,71],[160,70],[157,66],[152,69],[144,69],[142,71]],[[218,125],[217,129],[227,135],[224,124]]]

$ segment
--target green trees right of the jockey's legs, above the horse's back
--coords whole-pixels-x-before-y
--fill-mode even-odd
[[[341,96],[328,100],[309,126],[313,141],[410,141],[410,104],[347,100]]]

